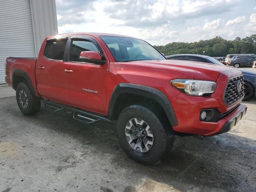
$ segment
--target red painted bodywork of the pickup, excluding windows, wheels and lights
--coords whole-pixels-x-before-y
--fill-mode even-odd
[[[42,44],[38,60],[7,58],[7,82],[12,86],[11,77],[15,69],[24,70],[32,81],[37,96],[70,106],[108,115],[109,102],[114,88],[120,83],[149,86],[162,91],[170,100],[178,125],[177,132],[212,135],[235,114],[234,110],[218,122],[202,122],[200,110],[217,108],[224,113],[235,106],[227,107],[223,101],[228,79],[242,74],[226,66],[180,60],[147,60],[116,62],[100,36],[113,34],[71,33],[60,36],[89,36],[100,45],[106,58],[104,65],[90,63],[54,61],[44,58],[43,52],[48,38]],[[119,36],[119,35],[118,35]],[[11,59],[11,58],[10,58]],[[217,83],[216,91],[210,97],[188,96],[170,85],[173,79],[210,80]],[[97,92],[97,93],[96,93]]]

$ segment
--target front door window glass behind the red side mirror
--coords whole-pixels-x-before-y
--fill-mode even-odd
[[[70,50],[70,61],[79,61],[80,53],[83,51],[100,52],[95,44],[88,40],[73,40]]]

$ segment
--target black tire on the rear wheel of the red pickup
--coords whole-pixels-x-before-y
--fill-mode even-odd
[[[20,99],[20,94],[23,95]],[[26,97],[24,97],[24,94]],[[24,105],[24,99],[26,100],[26,104]],[[40,111],[41,108],[41,100],[40,98],[37,98],[32,94],[31,90],[28,88],[28,86],[21,82],[18,84],[16,88],[16,100],[18,103],[18,106],[20,108],[20,111],[25,115],[34,115],[37,114]],[[21,102],[22,100],[23,102]]]

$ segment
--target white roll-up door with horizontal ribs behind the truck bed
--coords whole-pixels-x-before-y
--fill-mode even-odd
[[[0,0],[0,84],[7,57],[35,57],[29,0]],[[15,6],[14,6],[15,5]]]

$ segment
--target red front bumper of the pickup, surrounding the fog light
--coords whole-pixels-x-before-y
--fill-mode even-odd
[[[171,103],[178,120],[178,125],[173,126],[173,130],[179,133],[203,136],[229,131],[232,126],[237,124],[237,116],[242,112],[243,117],[247,109],[244,104],[235,104],[236,107],[232,106],[232,109],[226,111],[218,121],[207,122],[200,120],[200,111],[207,108],[219,109],[220,103],[215,98],[179,94],[171,100]]]

